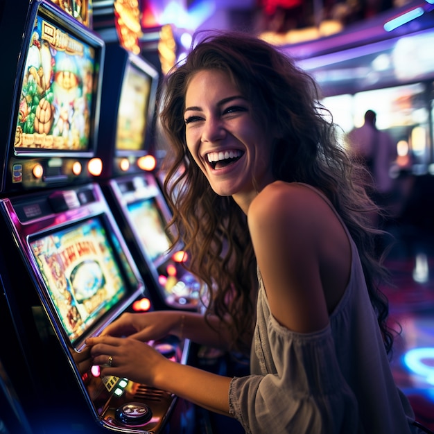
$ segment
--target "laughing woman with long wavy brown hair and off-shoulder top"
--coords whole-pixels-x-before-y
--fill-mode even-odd
[[[210,302],[205,315],[122,315],[87,342],[94,363],[111,356],[102,374],[232,415],[248,433],[417,433],[388,363],[375,205],[313,80],[257,38],[211,35],[168,75],[161,121],[173,221]],[[252,342],[251,375],[173,363],[143,343],[170,333]]]

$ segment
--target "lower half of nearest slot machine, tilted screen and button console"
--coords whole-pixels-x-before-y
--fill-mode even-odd
[[[29,377],[19,387],[35,433],[69,434],[74,426],[86,433],[164,432],[173,394],[101,378],[85,347],[88,336],[148,295],[100,187],[3,198],[0,214],[8,234],[1,245],[4,289]],[[173,360],[186,363],[173,343],[154,345],[170,346]],[[2,349],[9,366],[16,357]]]

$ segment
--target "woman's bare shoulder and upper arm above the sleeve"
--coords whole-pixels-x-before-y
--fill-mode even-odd
[[[320,272],[322,231],[327,227],[323,202],[304,186],[275,182],[259,193],[248,211],[272,315],[300,333],[324,329],[329,322]]]

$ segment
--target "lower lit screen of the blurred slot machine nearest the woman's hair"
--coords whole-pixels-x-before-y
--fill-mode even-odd
[[[171,239],[166,234],[165,223],[155,199],[150,198],[128,205],[134,229],[139,241],[150,258],[155,261],[171,248]]]

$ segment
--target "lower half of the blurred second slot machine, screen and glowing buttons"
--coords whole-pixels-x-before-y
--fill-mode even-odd
[[[109,202],[116,202],[119,225],[128,236],[141,275],[149,275],[149,285],[157,286],[155,305],[160,309],[195,311],[200,308],[200,284],[184,270],[188,254],[179,245],[173,252],[173,234],[166,229],[171,218],[157,180],[150,174],[110,180]],[[113,209],[113,207],[112,207]]]

